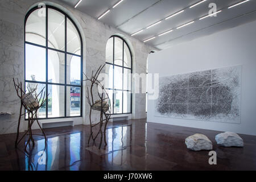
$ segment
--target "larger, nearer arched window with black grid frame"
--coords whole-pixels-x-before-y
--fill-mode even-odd
[[[39,118],[82,116],[82,39],[73,20],[56,7],[35,7],[26,15],[25,83],[36,93],[45,88]]]

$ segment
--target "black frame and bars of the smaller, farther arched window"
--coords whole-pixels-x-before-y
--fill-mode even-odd
[[[112,114],[113,115],[118,115],[118,114],[131,114],[133,113],[133,93],[132,93],[132,90],[133,90],[133,78],[131,78],[131,90],[124,90],[123,89],[123,75],[122,75],[122,89],[115,89],[114,88],[114,68],[115,67],[121,67],[122,68],[122,73],[123,73],[123,68],[125,69],[130,69],[131,73],[133,73],[133,56],[131,54],[131,49],[129,47],[129,45],[127,44],[127,42],[125,41],[125,39],[123,39],[121,36],[118,36],[118,35],[112,35],[110,36],[110,38],[113,38],[113,63],[109,63],[106,61],[106,64],[109,64],[109,65],[112,65],[113,66],[113,86],[112,88],[106,88],[108,90],[113,90],[113,96],[112,96]],[[109,38],[109,39],[110,39]],[[115,64],[115,38],[119,38],[122,40],[122,66],[121,65],[117,65]],[[109,41],[108,39],[108,41]],[[129,52],[130,52],[130,57],[131,57],[131,68],[128,68],[128,67],[124,67],[123,66],[123,63],[124,63],[124,51],[125,51],[125,44],[127,46],[127,48],[129,49]],[[122,91],[122,113],[114,113],[114,91],[117,90],[117,91]],[[129,113],[123,113],[123,92],[130,92],[131,94],[131,100],[130,100],[130,103],[131,103],[131,109],[130,109],[130,112]]]

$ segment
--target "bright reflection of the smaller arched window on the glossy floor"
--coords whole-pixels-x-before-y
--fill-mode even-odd
[[[112,130],[112,131],[111,131]],[[108,129],[108,160],[112,164],[122,165],[126,162],[127,150],[131,150],[131,125]]]

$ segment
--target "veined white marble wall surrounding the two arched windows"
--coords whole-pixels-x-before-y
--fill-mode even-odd
[[[0,111],[9,111],[12,115],[0,115],[0,134],[14,133],[18,122],[19,100],[13,86],[13,77],[24,83],[24,16],[38,0],[1,0],[0,1]],[[105,63],[106,42],[112,35],[122,35],[129,43],[133,53],[133,72],[146,73],[148,53],[155,50],[144,43],[107,24],[64,5],[59,1],[47,1],[48,5],[59,7],[76,22],[84,42],[84,72],[90,75],[92,70]],[[138,84],[138,83],[134,83]],[[85,86],[82,98],[84,113],[81,122],[89,124],[89,105],[85,100]],[[146,86],[146,85],[145,85]],[[133,95],[133,118],[145,118],[145,94]],[[76,119],[77,120],[77,119]],[[93,121],[98,113],[93,114]],[[24,119],[21,131],[24,130]]]

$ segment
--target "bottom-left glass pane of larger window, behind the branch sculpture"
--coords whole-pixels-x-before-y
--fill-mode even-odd
[[[43,96],[44,96],[44,99],[46,98],[46,85],[45,84],[36,84],[36,83],[26,82],[25,90],[27,93],[28,93],[28,90],[30,90],[30,92],[32,90],[35,90],[33,96],[34,96],[34,98],[38,97],[39,105],[42,104]],[[40,93],[41,91],[42,91],[42,97],[41,97],[41,93]],[[40,97],[41,97],[41,99],[40,99]],[[46,102],[38,110],[37,116],[38,116],[38,118],[46,118]],[[27,118],[27,114],[26,114],[26,118]]]

